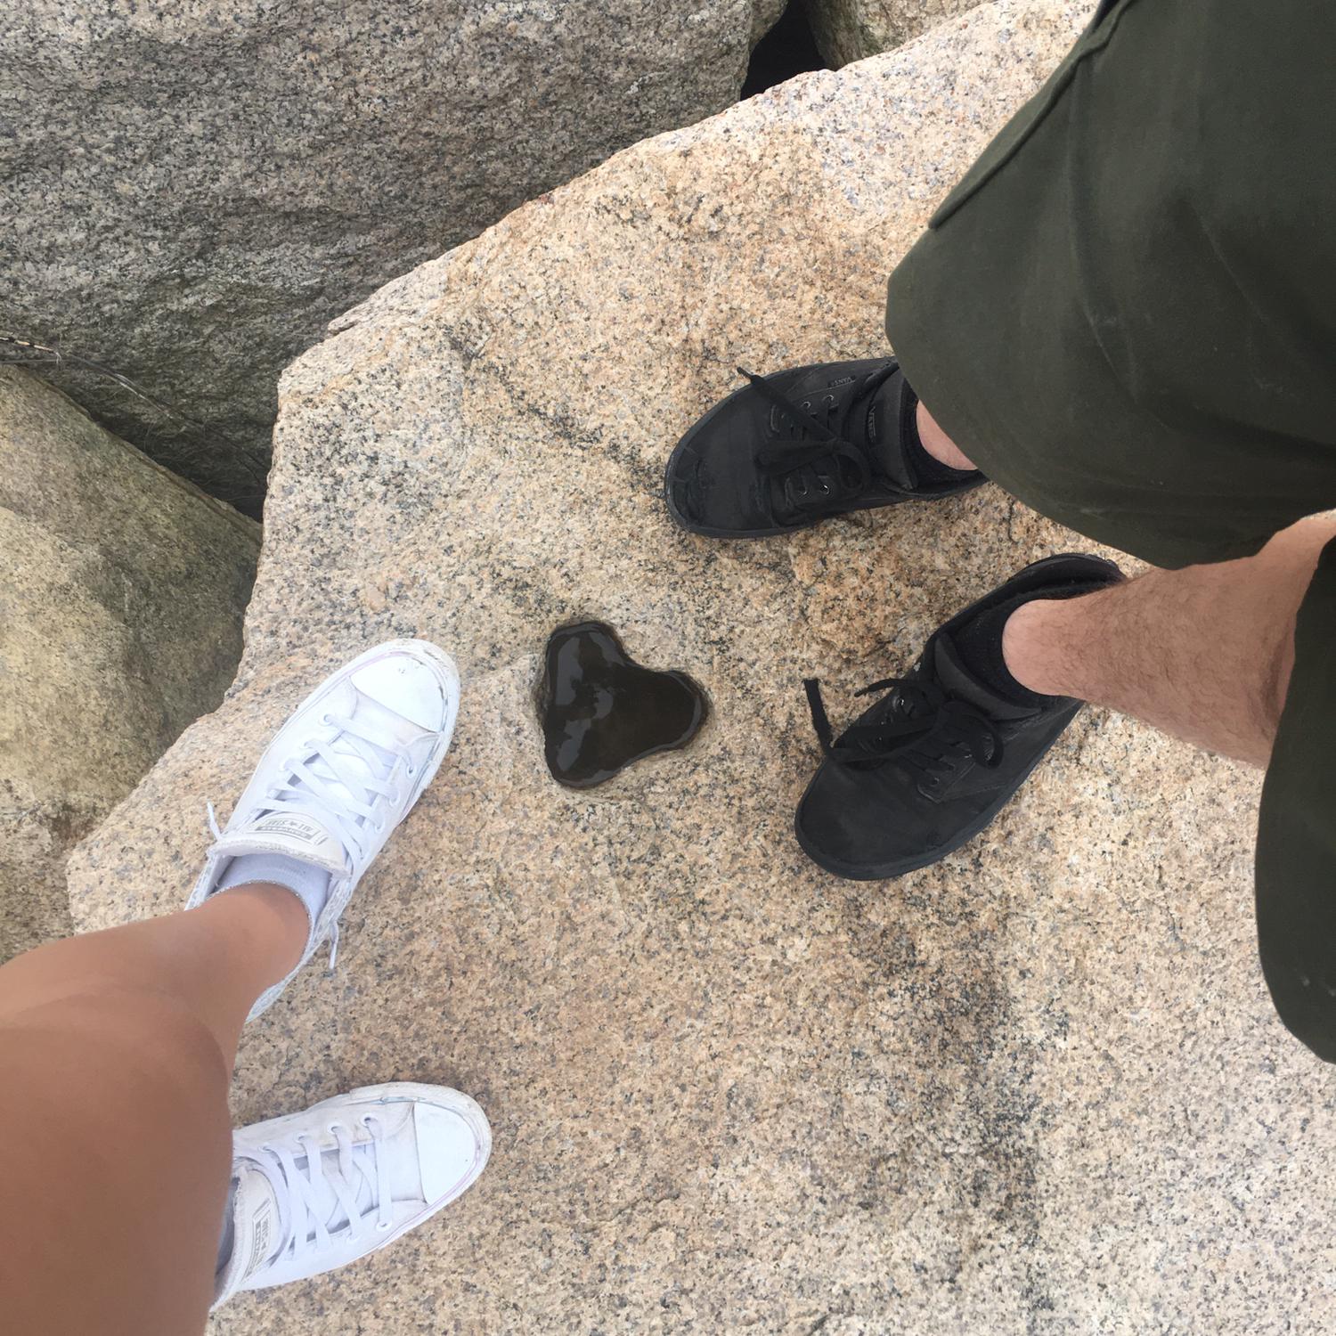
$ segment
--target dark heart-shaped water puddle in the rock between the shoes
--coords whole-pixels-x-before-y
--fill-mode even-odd
[[[685,747],[709,705],[684,672],[643,668],[612,627],[581,621],[548,637],[538,711],[552,778],[593,788],[643,756]]]

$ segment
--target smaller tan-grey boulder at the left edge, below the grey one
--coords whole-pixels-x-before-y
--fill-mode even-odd
[[[242,648],[259,529],[0,367],[0,961],[69,931],[64,860]]]

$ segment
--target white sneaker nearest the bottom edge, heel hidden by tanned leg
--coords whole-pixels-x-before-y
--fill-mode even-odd
[[[409,1081],[240,1128],[212,1307],[394,1242],[462,1196],[490,1152],[486,1116],[466,1094]]]

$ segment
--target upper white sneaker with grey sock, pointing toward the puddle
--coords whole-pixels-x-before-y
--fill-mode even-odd
[[[283,854],[330,874],[329,899],[311,926],[297,969],[263,993],[266,1010],[327,937],[330,966],[338,919],[371,859],[407,815],[445,759],[460,707],[454,661],[425,640],[369,649],[293,712],[261,758],[218,843],[208,851],[187,908],[216,888],[240,854]]]

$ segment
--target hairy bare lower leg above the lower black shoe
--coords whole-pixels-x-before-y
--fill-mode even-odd
[[[1295,663],[1295,616],[1333,536],[1336,517],[1309,516],[1255,557],[1022,604],[1006,623],[1007,667],[1031,691],[1110,705],[1265,766]]]

